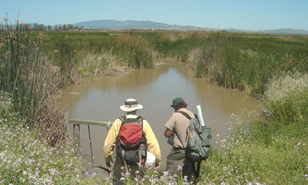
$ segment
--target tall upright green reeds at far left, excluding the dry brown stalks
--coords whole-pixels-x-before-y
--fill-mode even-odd
[[[10,92],[15,110],[33,124],[37,107],[45,96],[48,74],[44,56],[37,50],[44,36],[30,34],[7,23],[0,30],[0,88]],[[31,125],[32,125],[31,124]]]

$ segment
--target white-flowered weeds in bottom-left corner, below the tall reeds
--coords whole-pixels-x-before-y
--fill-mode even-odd
[[[24,128],[12,104],[1,93],[0,184],[76,184],[80,158],[69,146],[52,148],[35,129]]]

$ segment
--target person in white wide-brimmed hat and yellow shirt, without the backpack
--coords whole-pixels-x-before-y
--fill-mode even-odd
[[[139,109],[142,109],[143,106],[138,104],[138,101],[135,99],[127,99],[124,102],[124,105],[120,106],[120,109],[125,111],[125,117],[127,119],[131,118],[137,118],[137,111]],[[108,167],[111,167],[110,162],[113,162],[113,175],[119,180],[121,178],[121,173],[125,173],[124,170],[124,164],[119,163],[119,160],[117,160],[117,156],[115,156],[114,147],[115,147],[115,138],[117,137],[119,133],[119,129],[121,127],[122,121],[120,118],[115,120],[108,131],[108,135],[106,137],[105,143],[104,143],[104,157],[106,161],[106,165]],[[157,141],[157,138],[155,134],[153,133],[149,123],[143,119],[143,131],[146,137],[146,146],[148,152],[153,154],[155,156],[155,169],[158,169],[160,167],[160,161],[161,161],[161,152],[159,148],[159,144]],[[132,171],[139,170],[138,166],[129,166],[129,168]],[[121,183],[120,181],[118,181]]]

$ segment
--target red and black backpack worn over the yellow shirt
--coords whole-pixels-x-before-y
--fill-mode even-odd
[[[119,118],[122,121],[119,133],[115,138],[115,152],[126,165],[143,165],[146,161],[146,138],[143,132],[143,119]]]

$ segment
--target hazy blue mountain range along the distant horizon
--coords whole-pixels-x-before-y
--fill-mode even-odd
[[[134,21],[134,20],[91,20],[72,24],[73,26],[83,26],[84,29],[109,29],[109,30],[126,30],[126,29],[141,29],[141,30],[178,30],[178,31],[218,31],[214,28],[202,28],[194,26],[168,25],[160,22],[152,21]],[[238,29],[223,29],[219,31],[226,32],[246,32],[246,33],[278,33],[278,34],[308,34],[306,30],[295,29],[278,29],[278,30],[238,30]]]

